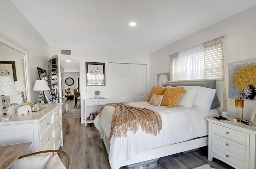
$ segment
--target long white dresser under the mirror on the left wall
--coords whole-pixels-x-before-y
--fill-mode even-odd
[[[32,142],[24,153],[59,149],[63,146],[62,103],[46,104],[46,108],[27,115],[12,114],[0,122],[0,145]]]

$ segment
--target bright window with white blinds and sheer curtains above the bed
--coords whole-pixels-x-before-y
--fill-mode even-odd
[[[224,78],[222,37],[170,57],[170,80]]]

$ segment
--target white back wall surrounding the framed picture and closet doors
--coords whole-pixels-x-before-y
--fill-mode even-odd
[[[60,50],[71,50],[72,55],[60,55],[61,59],[79,60],[80,61],[80,95],[81,95],[81,122],[84,123],[84,98],[94,97],[94,91],[100,90],[100,97],[109,97],[110,91],[110,68],[109,62],[130,63],[130,64],[147,64],[149,72],[149,55],[136,54],[129,52],[115,52],[107,50],[93,50],[85,48],[65,48],[60,46],[50,46],[50,56],[60,54]],[[103,62],[105,63],[106,86],[86,86],[85,62]],[[147,74],[147,90],[149,90],[149,74]]]

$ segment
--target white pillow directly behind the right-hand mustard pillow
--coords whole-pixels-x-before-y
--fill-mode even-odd
[[[181,86],[184,87],[187,93],[184,93],[178,103],[178,106],[191,108],[194,105],[196,95],[197,95],[197,88],[196,87],[188,87],[188,86]]]

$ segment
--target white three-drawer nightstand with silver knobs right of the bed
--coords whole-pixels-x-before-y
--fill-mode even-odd
[[[208,160],[213,157],[236,169],[256,167],[256,126],[206,118],[209,124]]]

